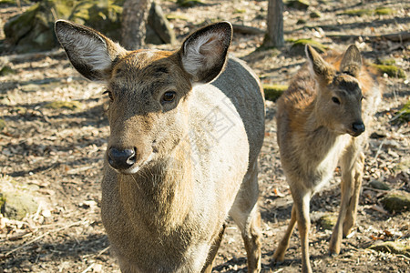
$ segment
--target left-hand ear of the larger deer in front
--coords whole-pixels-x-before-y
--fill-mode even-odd
[[[105,35],[84,25],[57,20],[56,37],[71,64],[87,79],[107,81],[113,61],[126,50]]]

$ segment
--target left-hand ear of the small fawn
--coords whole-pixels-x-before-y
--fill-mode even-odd
[[[335,71],[332,66],[330,66],[323,57],[317,53],[316,50],[313,49],[311,45],[306,45],[305,47],[306,56],[309,60],[309,65],[312,68],[313,75],[320,81],[324,81],[324,83],[329,84]]]

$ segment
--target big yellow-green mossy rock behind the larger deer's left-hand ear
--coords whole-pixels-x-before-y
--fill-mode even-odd
[[[59,46],[54,34],[56,17],[88,25],[118,40],[123,1],[41,1],[7,21],[5,37],[18,53],[50,50]]]

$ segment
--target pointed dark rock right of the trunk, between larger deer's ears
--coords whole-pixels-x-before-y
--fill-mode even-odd
[[[149,9],[145,42],[148,44],[175,44],[176,36],[162,9],[152,2]]]

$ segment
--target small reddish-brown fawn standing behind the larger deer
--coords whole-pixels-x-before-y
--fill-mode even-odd
[[[293,197],[289,227],[273,258],[282,261],[295,223],[302,244],[302,272],[312,272],[308,232],[311,197],[342,167],[342,201],[330,241],[339,254],[342,235],[354,226],[364,171],[364,124],[372,119],[380,87],[376,75],[362,65],[355,45],[343,55],[323,58],[306,46],[308,64],[292,78],[278,101],[277,136],[284,173]],[[343,233],[342,233],[343,231]]]

